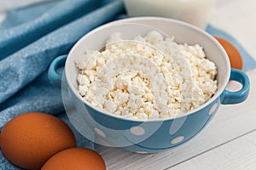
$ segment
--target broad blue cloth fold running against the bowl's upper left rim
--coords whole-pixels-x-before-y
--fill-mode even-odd
[[[57,55],[67,53],[74,42],[86,32],[113,20],[123,11],[122,2],[110,3],[84,15],[79,20],[74,20],[66,26],[50,32],[26,48],[2,59],[0,62],[0,103],[9,99],[43,71],[46,71],[49,63]]]

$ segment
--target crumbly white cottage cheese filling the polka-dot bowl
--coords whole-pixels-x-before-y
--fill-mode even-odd
[[[217,68],[198,45],[179,44],[151,31],[123,40],[113,34],[104,50],[75,60],[79,94],[98,109],[142,120],[184,114],[217,90]]]

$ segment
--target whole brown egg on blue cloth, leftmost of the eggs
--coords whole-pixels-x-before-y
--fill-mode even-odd
[[[3,155],[18,167],[40,169],[51,156],[76,146],[70,127],[55,116],[29,112],[10,120],[1,132]]]

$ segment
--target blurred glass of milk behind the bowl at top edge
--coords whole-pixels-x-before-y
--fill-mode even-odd
[[[125,0],[129,16],[161,16],[204,29],[215,0]]]

